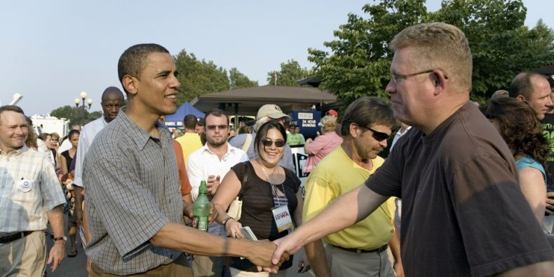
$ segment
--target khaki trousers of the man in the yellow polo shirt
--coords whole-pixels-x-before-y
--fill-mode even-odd
[[[327,263],[331,269],[331,276],[396,276],[386,251],[356,253],[327,245],[325,252],[327,253]]]

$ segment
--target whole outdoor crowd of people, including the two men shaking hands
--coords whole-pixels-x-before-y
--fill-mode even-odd
[[[171,133],[180,82],[153,43],[123,52],[123,92],[62,142],[0,107],[0,275],[55,271],[79,232],[89,276],[287,276],[300,248],[295,270],[316,276],[551,276],[552,77],[518,74],[478,107],[460,29],[414,25],[390,47],[392,104],[360,97],[315,138],[276,104],[236,135],[221,109]],[[208,232],[190,227],[201,181]]]

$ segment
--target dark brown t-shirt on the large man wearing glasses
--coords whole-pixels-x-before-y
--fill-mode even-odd
[[[554,259],[511,151],[471,102],[430,135],[403,135],[366,185],[402,198],[407,276],[487,276]]]

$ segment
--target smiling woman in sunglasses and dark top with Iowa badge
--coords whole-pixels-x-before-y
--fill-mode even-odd
[[[219,185],[212,203],[219,212],[217,222],[224,225],[229,236],[243,238],[241,227],[248,226],[258,240],[274,241],[302,223],[300,180],[295,173],[278,165],[283,157],[286,137],[285,128],[278,121],[264,123],[254,141],[259,158],[236,164]],[[226,211],[239,194],[243,206],[241,219],[236,221]],[[269,274],[254,273],[257,268],[248,259],[233,257],[229,266],[231,276]],[[277,274],[271,276],[286,276],[286,269],[290,266],[292,256],[281,265]]]

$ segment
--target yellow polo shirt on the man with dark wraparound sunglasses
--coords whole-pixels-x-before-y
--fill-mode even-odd
[[[383,162],[384,159],[377,156],[372,160],[373,168],[369,171],[354,163],[342,147],[337,147],[318,163],[306,180],[303,221],[307,222],[318,215],[335,198],[362,185]],[[324,240],[343,248],[379,248],[391,239],[393,217],[394,199],[389,198],[362,221],[325,236]]]

